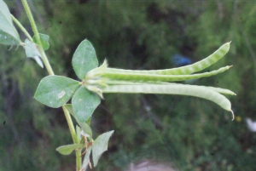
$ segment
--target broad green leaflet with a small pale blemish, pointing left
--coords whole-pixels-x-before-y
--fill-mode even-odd
[[[49,107],[60,107],[67,103],[79,88],[78,81],[68,77],[44,77],[38,85],[35,99]]]

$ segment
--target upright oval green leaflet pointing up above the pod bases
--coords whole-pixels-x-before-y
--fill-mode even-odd
[[[88,71],[99,66],[95,49],[88,40],[85,39],[79,44],[79,47],[73,54],[72,65],[81,80],[84,79]]]

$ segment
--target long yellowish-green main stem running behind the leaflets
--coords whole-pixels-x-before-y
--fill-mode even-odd
[[[44,48],[42,46],[41,39],[40,39],[39,33],[38,33],[38,28],[37,28],[36,23],[33,19],[32,12],[31,12],[26,0],[22,0],[22,3],[23,3],[23,6],[24,6],[24,9],[26,10],[26,15],[27,15],[27,17],[30,21],[31,26],[32,26],[32,31],[33,31],[33,33],[36,37],[37,42],[38,42],[38,50],[41,54],[41,58],[44,62],[44,66],[46,67],[49,75],[55,75],[54,71],[52,70],[52,68],[49,64],[49,60],[48,60],[46,54],[44,53]],[[70,133],[71,133],[72,138],[73,138],[73,143],[78,144],[79,140],[77,138],[76,131],[75,131],[75,128],[73,126],[73,121],[72,121],[72,118],[70,117],[70,113],[67,111],[67,109],[64,105],[62,106],[62,109],[63,109],[65,117],[67,119],[68,128],[69,128]],[[77,171],[79,171],[80,168],[81,168],[81,151],[76,151],[76,163],[77,163]]]

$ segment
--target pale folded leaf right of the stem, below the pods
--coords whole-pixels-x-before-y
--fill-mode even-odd
[[[92,145],[92,160],[94,167],[96,167],[102,153],[108,150],[108,140],[113,134],[113,131],[101,134],[96,138]]]

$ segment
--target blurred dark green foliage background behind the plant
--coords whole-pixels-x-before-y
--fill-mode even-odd
[[[32,34],[20,0],[9,9]],[[100,63],[125,69],[174,67],[172,56],[193,62],[232,41],[230,52],[211,66],[233,65],[195,84],[229,88],[230,112],[207,100],[154,94],[105,94],[92,117],[94,138],[115,130],[108,151],[93,170],[123,170],[142,159],[170,162],[179,170],[256,170],[254,117],[256,1],[241,0],[30,0],[38,29],[50,37],[47,50],[56,75],[77,79],[73,52],[85,38]],[[19,32],[20,30],[17,29]],[[25,37],[20,32],[24,41]],[[22,48],[0,46],[0,170],[74,170],[75,157],[55,149],[72,143],[61,109],[33,99],[47,75]]]

